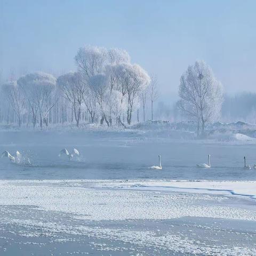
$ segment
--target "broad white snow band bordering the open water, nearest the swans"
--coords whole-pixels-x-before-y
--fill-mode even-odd
[[[223,203],[234,193],[253,200],[255,185],[255,181],[1,180],[0,205],[35,206],[94,221],[180,217],[255,221],[254,209]]]

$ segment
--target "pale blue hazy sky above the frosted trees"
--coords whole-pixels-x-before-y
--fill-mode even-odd
[[[256,1],[0,0],[0,69],[74,70],[85,44],[126,49],[165,97],[204,59],[226,92],[256,92]]]

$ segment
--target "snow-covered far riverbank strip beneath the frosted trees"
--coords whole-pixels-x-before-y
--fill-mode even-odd
[[[94,137],[138,137],[145,140],[174,140],[190,141],[197,143],[235,143],[235,144],[256,144],[256,125],[238,121],[236,123],[212,123],[207,124],[204,138],[197,138],[195,122],[170,122],[151,121],[118,126],[113,124],[108,127],[106,124],[82,123],[77,127],[75,124],[55,124],[35,129],[31,126],[0,125],[1,133],[20,133],[29,137],[35,134],[63,134],[63,135],[93,135]]]

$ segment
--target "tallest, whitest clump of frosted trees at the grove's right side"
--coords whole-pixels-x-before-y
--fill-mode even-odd
[[[85,46],[78,50],[75,61],[82,81],[87,86],[88,95],[94,96],[84,99],[89,113],[94,113],[95,106],[98,106],[98,114],[102,115],[101,123],[105,120],[111,125],[113,110],[110,99],[112,91],[116,90],[122,93],[120,105],[127,95],[127,123],[131,124],[134,102],[138,101],[140,92],[150,81],[146,71],[139,65],[132,65],[129,54],[121,49],[106,50],[97,46]],[[101,83],[103,77],[105,82]],[[93,102],[94,100],[97,102]]]

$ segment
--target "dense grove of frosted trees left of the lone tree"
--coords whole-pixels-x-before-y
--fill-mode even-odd
[[[79,126],[81,121],[126,126],[135,111],[139,121],[140,105],[145,121],[147,101],[153,119],[157,78],[131,63],[125,50],[85,46],[74,59],[74,72],[54,77],[38,71],[3,83],[0,121],[41,129],[49,123]]]

